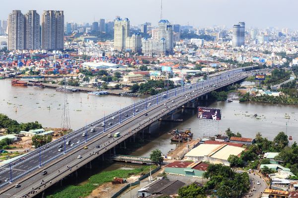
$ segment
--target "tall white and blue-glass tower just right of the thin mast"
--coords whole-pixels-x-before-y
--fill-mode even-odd
[[[158,23],[158,39],[165,39],[165,52],[172,54],[174,49],[173,43],[173,26],[168,20],[160,20]]]

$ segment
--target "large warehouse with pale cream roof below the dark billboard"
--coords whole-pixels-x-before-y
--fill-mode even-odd
[[[185,154],[186,160],[207,161],[213,164],[229,166],[227,158],[230,155],[240,155],[245,148],[234,147],[227,144],[202,144]]]

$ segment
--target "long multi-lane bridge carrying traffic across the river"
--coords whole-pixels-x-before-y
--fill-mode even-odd
[[[40,193],[93,159],[103,157],[105,152],[111,153],[114,149],[115,154],[116,145],[125,144],[127,139],[134,138],[178,107],[189,102],[194,105],[195,99],[247,76],[242,69],[234,69],[192,86],[168,90],[113,112],[3,165],[0,167],[0,198],[21,198],[32,189]],[[114,137],[115,133],[119,136]],[[66,144],[67,141],[74,145]],[[47,174],[42,174],[44,170]],[[20,186],[16,188],[16,184]]]

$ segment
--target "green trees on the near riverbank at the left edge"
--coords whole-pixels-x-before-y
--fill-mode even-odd
[[[31,129],[41,129],[42,125],[37,121],[28,123],[18,123],[10,119],[7,115],[0,114],[0,128],[7,129],[7,133],[19,133],[20,131],[29,131]]]

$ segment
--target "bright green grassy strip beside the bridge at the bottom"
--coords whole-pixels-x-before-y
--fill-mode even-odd
[[[156,166],[151,166],[151,169]],[[144,166],[133,170],[113,170],[104,171],[89,178],[88,183],[81,186],[68,185],[53,192],[46,198],[79,198],[88,196],[95,188],[107,182],[114,180],[114,177],[129,178],[131,175],[146,174],[150,170],[150,166]]]

